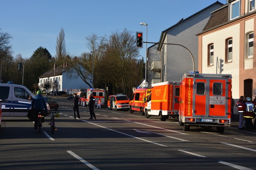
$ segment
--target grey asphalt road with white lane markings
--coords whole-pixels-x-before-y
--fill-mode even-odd
[[[226,127],[182,130],[176,120],[79,107],[73,119],[72,102],[56,99],[61,116],[50,132],[46,117],[41,134],[25,117],[3,117],[0,169],[100,170],[250,170],[256,169],[256,131]]]

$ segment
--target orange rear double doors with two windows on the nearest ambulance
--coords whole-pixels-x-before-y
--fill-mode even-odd
[[[226,79],[197,77],[193,90],[193,116],[203,118],[228,118],[228,89]],[[205,119],[208,121],[208,119]],[[210,121],[210,120],[209,120]]]

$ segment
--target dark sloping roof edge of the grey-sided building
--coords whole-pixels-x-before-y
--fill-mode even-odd
[[[187,21],[187,20],[193,18],[194,16],[196,16],[196,15],[202,13],[202,12],[205,11],[206,9],[208,9],[208,8],[210,8],[210,7],[212,7],[212,6],[216,5],[216,4],[219,4],[219,5],[223,6],[223,4],[222,4],[221,2],[216,1],[215,3],[209,5],[209,6],[207,6],[206,8],[204,8],[204,9],[198,11],[197,13],[195,13],[195,14],[193,14],[193,15],[187,17],[186,19],[183,19],[183,18],[182,18],[180,21],[178,21],[178,23],[176,23],[175,25],[171,26],[170,28],[167,28],[166,30],[164,30],[164,31],[161,33],[161,36],[160,36],[160,40],[159,40],[159,43],[160,43],[160,44],[158,45],[158,50],[161,49],[161,47],[163,46],[163,41],[165,40],[165,36],[166,36],[166,34],[167,34],[167,32],[168,32],[169,30],[175,28],[176,26],[180,25],[181,23],[184,23],[185,21]]]

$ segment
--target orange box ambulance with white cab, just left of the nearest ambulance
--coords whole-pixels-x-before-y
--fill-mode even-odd
[[[161,121],[179,117],[180,83],[162,82],[152,84],[151,94],[145,99],[145,117],[160,116]],[[178,120],[178,119],[177,119]]]

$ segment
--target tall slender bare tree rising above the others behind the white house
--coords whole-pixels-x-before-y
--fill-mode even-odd
[[[61,31],[59,32],[59,36],[57,36],[56,39],[56,60],[59,63],[62,63],[64,61],[66,53],[66,45],[65,45],[65,32],[64,29],[61,28]]]

